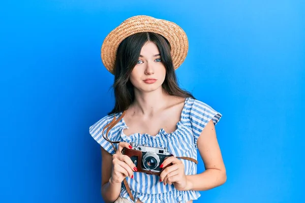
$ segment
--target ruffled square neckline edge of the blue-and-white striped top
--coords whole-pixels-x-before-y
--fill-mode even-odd
[[[170,134],[173,134],[175,133],[178,129],[179,129],[179,124],[182,122],[182,117],[184,115],[184,111],[186,109],[186,106],[187,106],[187,103],[188,103],[188,100],[190,99],[190,97],[186,97],[185,101],[184,101],[184,106],[182,108],[182,111],[181,111],[181,114],[180,114],[180,120],[176,123],[176,129],[170,133],[166,132],[164,130],[164,128],[161,128],[159,130],[159,132],[157,134],[155,134],[154,136],[152,136],[151,134],[148,134],[148,133],[139,133],[139,132],[135,132],[135,133],[132,133],[130,134],[129,136],[127,136],[127,134],[124,133],[124,129],[129,129],[129,127],[127,126],[126,122],[125,122],[125,119],[124,117],[121,119],[121,122],[122,124],[124,125],[124,128],[121,130],[121,134],[123,136],[126,136],[126,137],[131,137],[131,136],[136,136],[136,135],[140,135],[140,136],[148,136],[148,137],[153,137],[153,138],[156,138],[158,136],[160,136],[161,132],[167,136],[169,136]],[[123,114],[123,112],[120,112],[120,116]]]

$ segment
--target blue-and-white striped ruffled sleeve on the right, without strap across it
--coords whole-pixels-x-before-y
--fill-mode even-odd
[[[218,123],[222,115],[212,109],[210,106],[206,105],[202,101],[194,100],[194,103],[190,112],[190,120],[192,124],[192,130],[194,134],[194,142],[197,148],[197,140],[206,126],[206,124],[212,119],[214,125]]]

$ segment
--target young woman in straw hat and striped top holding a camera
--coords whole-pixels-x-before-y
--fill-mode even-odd
[[[222,115],[176,80],[188,52],[186,33],[170,21],[134,16],[109,33],[101,52],[114,74],[115,106],[89,132],[101,145],[104,200],[192,202],[198,191],[222,185],[226,170],[215,131]],[[160,163],[159,176],[139,173],[122,153],[131,143],[173,156]],[[197,149],[205,166],[198,174]]]

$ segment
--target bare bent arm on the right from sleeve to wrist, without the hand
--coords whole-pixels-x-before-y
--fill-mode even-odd
[[[227,180],[226,168],[212,120],[203,128],[197,146],[204,162],[205,171],[201,174],[187,176],[185,190],[208,190],[224,184]]]

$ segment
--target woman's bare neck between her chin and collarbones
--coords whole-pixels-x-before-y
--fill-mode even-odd
[[[135,100],[132,104],[132,110],[136,114],[154,115],[155,112],[164,109],[166,100],[169,95],[163,90],[158,88],[151,92],[139,92],[135,89]]]

